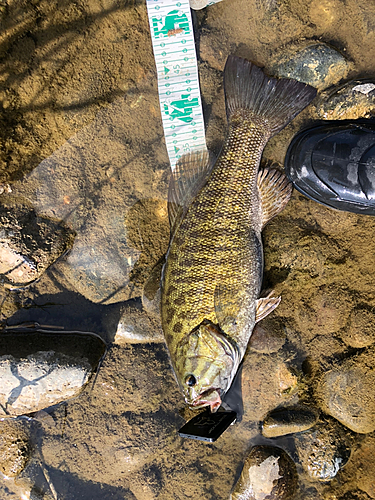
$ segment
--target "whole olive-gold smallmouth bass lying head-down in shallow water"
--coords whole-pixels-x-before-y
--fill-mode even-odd
[[[172,174],[161,286],[164,337],[180,390],[190,406],[211,411],[220,407],[255,323],[280,302],[259,298],[261,231],[292,187],[276,169],[259,172],[261,155],[316,95],[235,56],[227,60],[224,89],[228,134],[218,159],[188,154]]]

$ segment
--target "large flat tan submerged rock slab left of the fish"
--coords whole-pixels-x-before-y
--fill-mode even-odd
[[[38,214],[58,217],[73,228],[77,234],[73,248],[54,270],[64,286],[95,303],[139,296],[137,287],[143,284],[139,278],[162,255],[143,259],[149,251],[144,250],[144,220],[138,220],[138,226],[133,220],[128,228],[128,214],[139,200],[155,201],[153,252],[169,238],[168,229],[166,234],[156,231],[158,224],[168,224],[165,202],[160,210],[158,202],[167,198],[169,178],[161,121],[155,119],[152,126],[149,121],[158,107],[153,88],[118,99],[27,178],[14,183],[8,195],[22,194]],[[147,138],[140,140],[140,129],[147,130]],[[131,234],[136,227],[141,228],[140,241]],[[141,258],[143,264],[138,262]],[[135,264],[139,272],[133,276]]]

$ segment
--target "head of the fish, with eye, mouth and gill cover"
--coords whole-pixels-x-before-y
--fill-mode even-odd
[[[238,368],[237,345],[218,326],[204,320],[179,343],[177,359],[176,375],[185,401],[216,410],[215,401],[220,402]]]

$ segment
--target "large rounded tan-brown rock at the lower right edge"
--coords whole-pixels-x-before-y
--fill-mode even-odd
[[[325,413],[354,432],[375,430],[375,352],[344,360],[321,377],[316,396]]]

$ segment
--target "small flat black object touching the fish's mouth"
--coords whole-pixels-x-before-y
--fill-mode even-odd
[[[199,413],[178,431],[181,437],[213,443],[236,420],[235,411],[211,413],[210,409]]]

